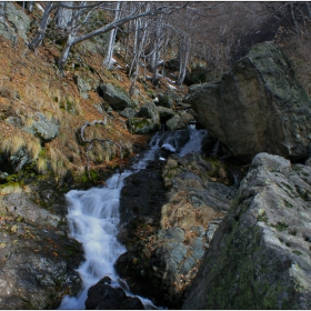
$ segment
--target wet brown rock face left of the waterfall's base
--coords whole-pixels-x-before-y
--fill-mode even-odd
[[[0,213],[0,309],[56,309],[77,294],[82,250],[64,220],[24,193],[1,197]]]

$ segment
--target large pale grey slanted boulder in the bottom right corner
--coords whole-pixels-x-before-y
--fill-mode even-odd
[[[311,308],[311,168],[258,154],[183,309]]]

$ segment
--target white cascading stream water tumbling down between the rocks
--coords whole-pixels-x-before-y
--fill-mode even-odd
[[[86,261],[78,269],[82,291],[78,297],[66,295],[59,309],[84,309],[88,289],[106,275],[111,279],[111,287],[120,287],[113,264],[119,255],[126,252],[126,248],[117,240],[120,192],[124,179],[134,171],[146,169],[150,161],[159,157],[159,150],[163,144],[172,146],[180,157],[193,151],[199,152],[205,134],[205,130],[194,129],[159,132],[150,142],[151,149],[134,159],[132,170],[113,174],[107,181],[108,188],[71,190],[67,193],[70,203],[68,207],[70,237],[82,244]],[[128,289],[124,290],[128,295],[133,297]],[[139,298],[146,309],[157,309],[150,300]]]

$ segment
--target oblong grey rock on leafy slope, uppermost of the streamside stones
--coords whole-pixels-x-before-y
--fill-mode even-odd
[[[109,103],[113,110],[123,110],[124,108],[134,108],[136,104],[129,94],[111,83],[100,84],[99,94]]]

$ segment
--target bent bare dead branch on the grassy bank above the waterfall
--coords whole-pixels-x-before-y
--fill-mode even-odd
[[[122,146],[119,144],[118,142],[111,140],[111,139],[108,139],[108,138],[104,138],[104,139],[100,139],[100,138],[93,138],[93,139],[89,139],[87,140],[84,138],[84,131],[87,129],[87,127],[90,127],[90,126],[94,126],[94,124],[102,124],[102,126],[106,126],[107,124],[107,117],[104,117],[104,120],[94,120],[92,122],[89,122],[87,121],[83,127],[81,128],[81,139],[83,142],[86,143],[90,143],[90,146],[88,147],[87,149],[87,170],[88,170],[88,177],[89,179],[91,179],[91,175],[90,175],[90,159],[89,159],[89,152],[91,151],[92,147],[93,147],[93,143],[96,141],[102,143],[102,142],[109,142],[111,144],[116,144],[117,147],[119,147],[120,149],[120,175],[121,175],[121,172],[122,172]],[[106,187],[108,187],[106,183],[103,183]]]

